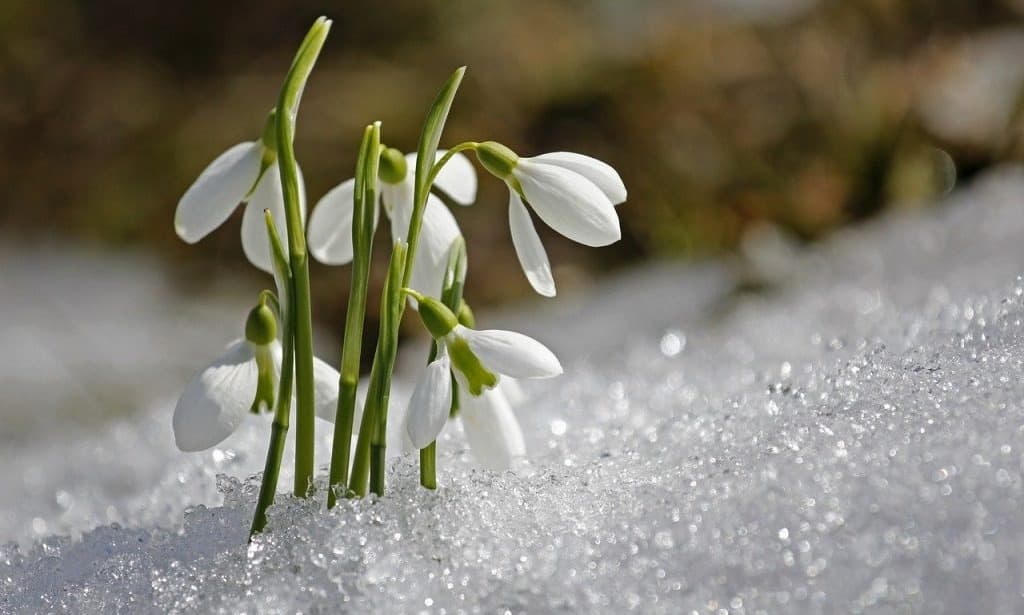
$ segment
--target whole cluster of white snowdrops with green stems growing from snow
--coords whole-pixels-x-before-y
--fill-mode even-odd
[[[178,400],[173,418],[179,448],[202,450],[230,435],[247,413],[272,411],[253,532],[266,522],[293,415],[296,495],[310,494],[314,416],[335,423],[329,506],[338,496],[364,495],[368,488],[383,494],[391,377],[407,303],[415,305],[434,341],[400,424],[403,436],[420,449],[423,485],[436,485],[436,440],[453,416],[461,421],[470,448],[484,467],[507,469],[526,453],[513,411],[522,400],[516,383],[558,376],[562,365],[529,337],[475,328],[463,297],[466,243],[445,205],[445,200],[459,206],[476,200],[477,176],[466,153],[475,155],[484,170],[508,186],[512,244],[526,279],[540,295],[553,297],[556,290],[530,210],[558,233],[585,246],[607,246],[621,237],[615,207],[626,200],[626,187],[614,169],[598,160],[565,151],[519,157],[495,141],[438,148],[464,69],[438,93],[416,152],[403,153],[383,143],[380,123],[367,126],[355,176],[328,191],[306,225],[305,188],[293,143],[295,121],[330,26],[330,20],[318,19],[303,41],[260,138],[234,145],[214,160],[181,197],[174,220],[178,235],[195,243],[245,204],[243,250],[253,265],[274,275],[276,294],[260,294],[246,320],[245,337],[200,371]],[[370,254],[382,209],[390,221],[393,249],[381,299],[379,341],[356,424]],[[307,253],[327,264],[352,264],[340,370],[312,352]]]

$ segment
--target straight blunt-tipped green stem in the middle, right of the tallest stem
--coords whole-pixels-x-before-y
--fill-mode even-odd
[[[341,349],[341,380],[338,409],[331,447],[331,489],[328,508],[337,501],[336,489],[348,482],[348,463],[352,449],[352,423],[355,416],[355,393],[359,384],[359,354],[362,350],[362,324],[367,313],[370,287],[370,257],[374,241],[374,205],[377,202],[377,173],[381,149],[380,122],[368,126],[362,134],[359,158],[355,165],[354,208],[352,213],[352,285],[348,293],[345,337]]]

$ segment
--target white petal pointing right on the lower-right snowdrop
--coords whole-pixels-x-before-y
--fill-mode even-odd
[[[551,378],[562,372],[558,357],[534,338],[511,331],[473,331],[464,326],[456,335],[493,371],[512,378]]]

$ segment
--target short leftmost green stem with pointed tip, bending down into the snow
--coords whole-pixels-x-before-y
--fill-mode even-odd
[[[256,513],[253,515],[253,524],[249,530],[249,538],[254,534],[263,531],[266,527],[266,510],[273,503],[273,496],[278,492],[278,477],[281,474],[281,459],[285,455],[285,440],[288,436],[289,414],[292,411],[292,368],[295,362],[295,344],[292,336],[293,314],[289,310],[283,309],[285,306],[294,305],[295,287],[292,283],[291,272],[289,270],[288,259],[285,257],[285,250],[281,246],[278,230],[273,224],[273,217],[270,212],[263,212],[266,220],[267,233],[270,240],[270,254],[273,258],[274,273],[278,282],[282,287],[281,293],[286,295],[285,299],[278,301],[273,293],[264,291],[260,294],[263,297],[272,298],[273,305],[278,311],[278,317],[282,322],[283,357],[281,362],[281,382],[278,388],[278,400],[274,404],[273,423],[270,426],[270,445],[266,451],[266,464],[263,467],[263,482],[260,484],[259,497],[256,500]]]

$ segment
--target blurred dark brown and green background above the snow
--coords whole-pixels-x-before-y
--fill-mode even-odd
[[[612,247],[583,249],[538,225],[560,293],[624,265],[745,254],[765,236],[813,241],[885,210],[927,207],[1024,153],[1022,0],[3,0],[0,243],[14,247],[0,252],[4,315],[38,310],[25,298],[46,280],[95,291],[83,263],[101,280],[111,262],[145,263],[141,303],[111,301],[174,305],[181,331],[181,310],[200,308],[180,306],[228,287],[254,297],[268,283],[242,255],[241,209],[193,247],[174,234],[174,208],[214,157],[258,136],[319,14],[334,27],[297,135],[310,204],[352,175],[367,123],[381,120],[388,144],[415,149],[437,88],[468,64],[442,144],[586,152],[629,187]],[[506,199],[482,177],[477,205],[456,212],[477,307],[530,296]],[[114,260],[39,256],[69,247]],[[143,292],[151,271],[177,304]],[[314,264],[315,315],[330,331],[342,322],[347,275]],[[55,301],[72,316],[52,321],[74,318],[69,297]],[[42,334],[26,331],[16,335],[36,345]]]

